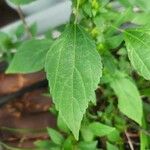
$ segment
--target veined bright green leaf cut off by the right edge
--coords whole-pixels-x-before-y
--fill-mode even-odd
[[[150,80],[149,27],[125,31],[125,42],[132,66],[145,79]]]

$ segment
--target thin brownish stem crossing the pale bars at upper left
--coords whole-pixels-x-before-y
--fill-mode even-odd
[[[28,25],[27,25],[27,22],[26,22],[26,20],[25,20],[25,17],[24,17],[24,15],[23,15],[23,12],[22,12],[20,6],[18,6],[17,12],[18,12],[18,15],[19,15],[20,19],[22,20],[22,23],[23,23],[23,25],[24,25],[24,28],[25,28],[25,30],[26,30],[26,32],[27,32],[27,34],[28,34],[28,37],[29,37],[29,38],[32,38],[32,34],[31,34],[31,32],[30,32],[30,29],[29,29],[29,27],[28,27]]]

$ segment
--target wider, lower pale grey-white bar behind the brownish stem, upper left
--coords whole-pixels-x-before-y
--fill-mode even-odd
[[[38,34],[44,33],[48,29],[65,24],[71,15],[71,1],[63,1],[46,10],[26,17],[27,24],[37,23]],[[17,21],[0,29],[0,31],[9,33],[15,30],[22,22]]]

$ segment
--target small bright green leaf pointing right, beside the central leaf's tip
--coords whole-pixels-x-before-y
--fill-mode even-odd
[[[99,137],[109,135],[115,130],[114,127],[110,127],[99,122],[91,123],[89,125],[89,129],[93,132],[95,136]]]

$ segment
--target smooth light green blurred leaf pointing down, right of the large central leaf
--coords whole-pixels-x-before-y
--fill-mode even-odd
[[[118,96],[120,111],[141,125],[142,100],[134,83],[127,78],[115,78],[111,82],[111,87]]]

